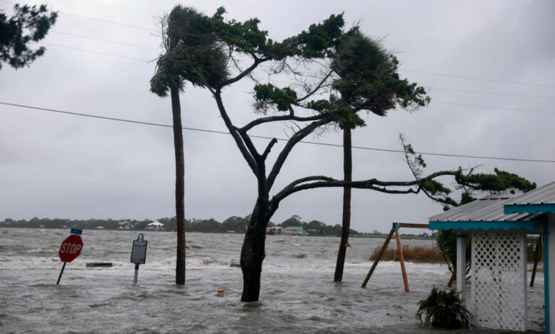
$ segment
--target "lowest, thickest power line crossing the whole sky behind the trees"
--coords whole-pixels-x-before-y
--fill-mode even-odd
[[[173,128],[173,126],[171,125],[167,125],[167,124],[159,124],[159,123],[152,123],[152,122],[140,122],[140,121],[134,121],[132,119],[120,119],[120,118],[114,118],[114,117],[105,117],[105,116],[97,116],[97,115],[93,115],[93,114],[83,114],[83,113],[79,113],[79,112],[67,112],[64,110],[58,110],[58,109],[48,109],[48,108],[41,108],[41,107],[32,107],[32,106],[28,106],[28,105],[23,105],[23,104],[14,104],[14,103],[8,103],[8,102],[0,102],[0,104],[4,104],[4,105],[9,105],[12,107],[21,107],[21,108],[28,108],[28,109],[36,109],[36,110],[41,110],[41,111],[45,111],[45,112],[56,112],[56,113],[60,113],[60,114],[70,114],[70,115],[74,115],[74,116],[81,116],[81,117],[91,117],[91,118],[96,118],[96,119],[107,119],[110,121],[117,121],[117,122],[127,122],[127,123],[134,123],[134,124],[143,124],[143,125],[151,125],[151,126],[162,126],[162,127],[167,127],[167,128]],[[183,126],[182,129],[184,130],[189,130],[189,131],[201,131],[201,132],[208,132],[208,133],[212,133],[212,134],[230,134],[227,131],[216,131],[216,130],[208,130],[208,129],[198,129],[198,128],[191,128],[191,127],[186,127]],[[274,139],[274,137],[270,137],[270,136],[255,136],[255,135],[251,135],[250,137],[253,138],[259,138],[259,139]],[[283,138],[275,138],[278,141],[288,141],[289,139],[283,139]],[[320,145],[320,146],[334,146],[334,147],[343,147],[343,145],[341,144],[327,144],[327,143],[319,143],[317,141],[300,141],[300,143],[302,144],[313,144],[313,145]],[[367,150],[367,151],[382,151],[382,152],[393,152],[393,153],[404,153],[403,150],[392,150],[392,149],[376,149],[376,148],[371,148],[371,147],[364,147],[364,146],[352,146],[353,149],[361,149],[361,150]],[[539,159],[524,159],[524,158],[504,158],[504,157],[497,157],[497,156],[467,156],[467,155],[462,155],[462,154],[450,154],[450,153],[433,153],[433,152],[416,152],[418,154],[423,154],[423,155],[428,155],[428,156],[450,156],[450,157],[455,157],[455,158],[480,158],[480,159],[490,159],[490,160],[504,160],[504,161],[522,161],[522,162],[540,162],[540,163],[555,163],[555,160],[539,160]]]

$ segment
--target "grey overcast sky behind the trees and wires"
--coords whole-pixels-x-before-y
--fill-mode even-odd
[[[149,92],[155,63],[148,60],[160,53],[156,50],[160,38],[155,18],[170,11],[174,1],[47,4],[60,15],[51,33],[39,43],[47,43],[46,54],[29,68],[13,70],[4,65],[0,70],[0,102],[171,124],[169,98]],[[401,76],[428,87],[432,103],[418,112],[393,110],[387,117],[368,117],[368,126],[353,132],[354,146],[401,149],[398,136],[403,133],[417,151],[555,161],[555,1],[205,0],[181,4],[209,15],[224,5],[228,19],[258,17],[260,28],[277,41],[342,12],[348,27],[359,23],[364,33],[384,38],[388,50],[401,61]],[[7,14],[11,14],[12,6],[0,2]],[[250,108],[251,90],[252,82],[244,82],[223,95],[237,124],[255,117]],[[181,106],[184,126],[226,130],[207,91],[186,87]],[[277,126],[252,132],[285,137],[284,130],[285,126]],[[342,134],[307,140],[342,144]],[[186,217],[222,221],[232,215],[248,215],[255,202],[255,178],[231,136],[186,130],[184,141]],[[259,145],[266,142],[257,139]],[[538,185],[555,179],[555,163],[424,158],[429,173],[480,166],[481,172],[497,167]],[[401,153],[355,149],[353,159],[354,179],[411,180]],[[342,149],[299,144],[285,163],[275,189],[310,175],[342,178]],[[451,183],[448,178],[444,181]],[[438,212],[441,206],[425,195],[354,190],[351,227],[386,232],[391,222],[426,223]],[[174,215],[171,129],[0,104],[0,220],[154,220]],[[342,190],[292,195],[282,202],[272,221],[282,222],[291,215],[340,224]]]

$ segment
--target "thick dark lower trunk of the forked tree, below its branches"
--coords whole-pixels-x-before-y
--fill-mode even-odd
[[[256,200],[253,215],[250,217],[243,247],[241,247],[240,265],[243,271],[243,294],[241,301],[258,301],[260,295],[260,274],[265,257],[266,227],[270,221],[268,196]]]

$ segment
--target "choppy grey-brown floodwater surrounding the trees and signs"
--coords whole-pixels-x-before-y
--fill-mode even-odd
[[[450,277],[440,264],[381,262],[366,286],[371,251],[383,239],[352,238],[344,279],[333,282],[338,237],[271,236],[257,303],[240,303],[243,235],[187,235],[186,285],[174,284],[175,235],[144,232],[147,263],[132,284],[138,232],[85,230],[83,252],[65,267],[69,230],[0,229],[0,333],[443,333],[415,318],[419,300]],[[403,245],[431,241],[403,240]],[[111,268],[86,268],[112,262]],[[216,291],[223,289],[223,297]],[[529,289],[532,330],[544,329],[544,281]],[[459,330],[455,333],[492,333]]]

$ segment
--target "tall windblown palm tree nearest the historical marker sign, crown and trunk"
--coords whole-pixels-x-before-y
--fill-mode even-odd
[[[211,33],[210,21],[190,7],[175,6],[160,19],[162,45],[157,70],[150,80],[150,91],[171,97],[175,151],[175,207],[177,230],[176,284],[185,284],[185,158],[179,93],[184,82],[205,87],[225,80],[226,54]]]

